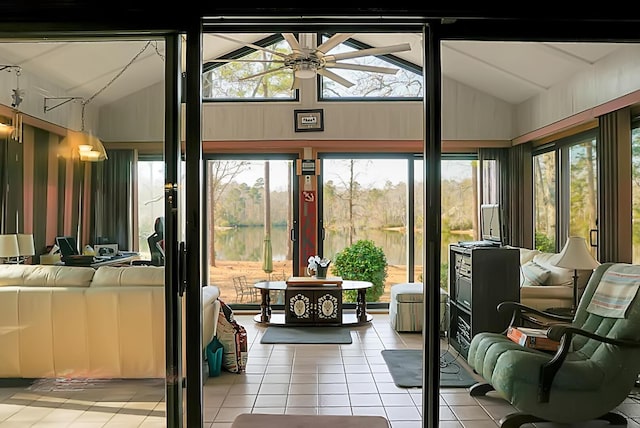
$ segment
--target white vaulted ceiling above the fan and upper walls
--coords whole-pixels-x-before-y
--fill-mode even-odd
[[[233,35],[245,41],[265,36]],[[419,34],[354,34],[353,38],[371,46],[408,42],[411,51],[397,56],[422,65]],[[301,35],[305,46],[312,39],[311,35]],[[234,42],[206,35],[203,59],[206,62],[239,47]],[[620,47],[615,43],[445,41],[442,70],[445,77],[519,104],[588,70]],[[162,81],[164,53],[161,41],[0,41],[0,64],[20,66],[25,79],[27,75],[34,76],[26,82],[29,85],[21,81],[21,89],[28,92],[27,96],[41,97],[43,104],[44,97],[57,96],[94,97],[91,102],[96,105],[118,100]],[[59,89],[47,87],[44,82]]]

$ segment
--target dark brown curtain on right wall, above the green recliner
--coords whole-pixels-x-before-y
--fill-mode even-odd
[[[598,117],[598,260],[632,262],[631,112]]]

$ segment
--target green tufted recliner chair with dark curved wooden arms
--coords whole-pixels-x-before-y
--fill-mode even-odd
[[[546,332],[560,341],[555,353],[521,346],[506,334],[476,334],[468,362],[486,382],[472,386],[470,394],[496,391],[517,409],[500,420],[503,428],[592,419],[626,426],[626,418],[613,410],[640,373],[639,284],[640,265],[598,266],[573,320]],[[523,311],[553,318],[515,302],[501,303],[498,310],[512,311],[512,325],[518,325]]]

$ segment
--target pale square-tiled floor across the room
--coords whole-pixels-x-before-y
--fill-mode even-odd
[[[396,333],[387,314],[374,314],[371,324],[353,327],[350,345],[263,345],[264,326],[254,323],[252,315],[236,314],[236,320],[248,333],[247,370],[243,374],[223,370],[206,379],[206,427],[228,428],[238,414],[249,412],[382,415],[392,428],[423,426],[422,390],[396,387],[380,354],[385,348],[419,348],[422,338]],[[455,352],[443,341],[445,349]],[[464,365],[463,360],[459,363]],[[470,397],[468,388],[442,388],[439,426],[496,427],[496,421],[512,410],[496,397]],[[629,427],[640,428],[638,399],[630,397],[618,411],[630,418]],[[164,426],[161,380],[42,380],[0,388],[1,428]]]

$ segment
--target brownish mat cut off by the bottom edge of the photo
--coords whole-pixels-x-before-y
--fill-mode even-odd
[[[388,428],[383,416],[359,415],[274,415],[270,413],[242,413],[231,428]]]

